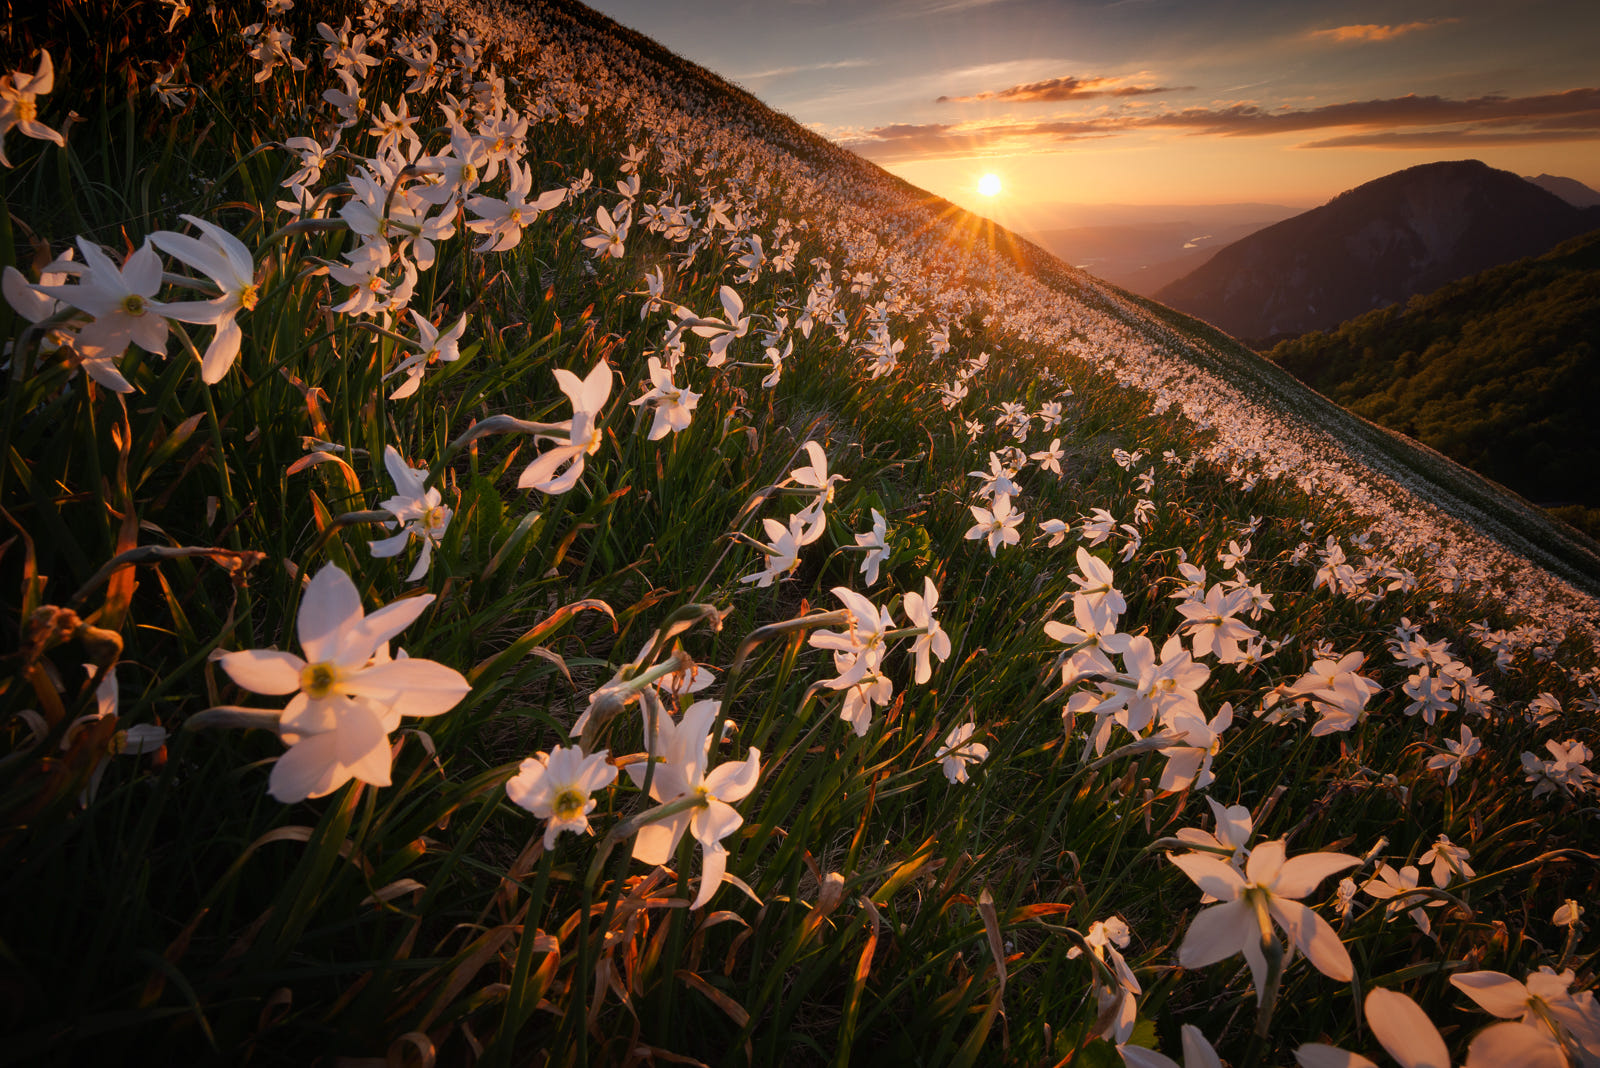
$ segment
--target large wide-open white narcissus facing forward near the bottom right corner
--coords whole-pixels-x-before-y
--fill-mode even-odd
[[[1179,966],[1205,967],[1243,953],[1256,986],[1256,1001],[1261,1001],[1267,975],[1261,945],[1275,937],[1270,929],[1264,929],[1270,916],[1318,972],[1341,983],[1350,980],[1350,954],[1338,932],[1326,919],[1301,905],[1299,899],[1330,875],[1362,863],[1360,857],[1341,852],[1285,857],[1283,841],[1277,839],[1251,851],[1243,875],[1227,862],[1205,854],[1168,854],[1168,860],[1219,902],[1190,921],[1184,942],[1178,946]]]

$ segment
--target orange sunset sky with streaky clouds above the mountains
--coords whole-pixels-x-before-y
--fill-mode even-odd
[[[1600,187],[1595,0],[590,3],[1022,230],[1062,203],[1312,206],[1435,160]]]

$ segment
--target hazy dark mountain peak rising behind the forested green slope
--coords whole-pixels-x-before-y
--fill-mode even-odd
[[[1325,329],[1600,227],[1477,160],[1413,166],[1221,249],[1155,294],[1246,341]]]

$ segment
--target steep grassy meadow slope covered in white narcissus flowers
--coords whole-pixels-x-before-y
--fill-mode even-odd
[[[565,0],[3,40],[0,1060],[1600,1063],[1597,606],[1315,404]]]

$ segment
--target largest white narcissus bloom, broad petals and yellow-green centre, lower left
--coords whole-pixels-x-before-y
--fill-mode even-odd
[[[389,732],[400,716],[450,711],[472,686],[434,660],[389,659],[389,640],[434,603],[405,598],[368,616],[350,577],[328,564],[301,596],[296,632],[306,657],[246,649],[218,657],[229,678],[256,694],[294,694],[278,718],[290,751],[272,767],[278,801],[333,793],[350,779],[389,785]]]

